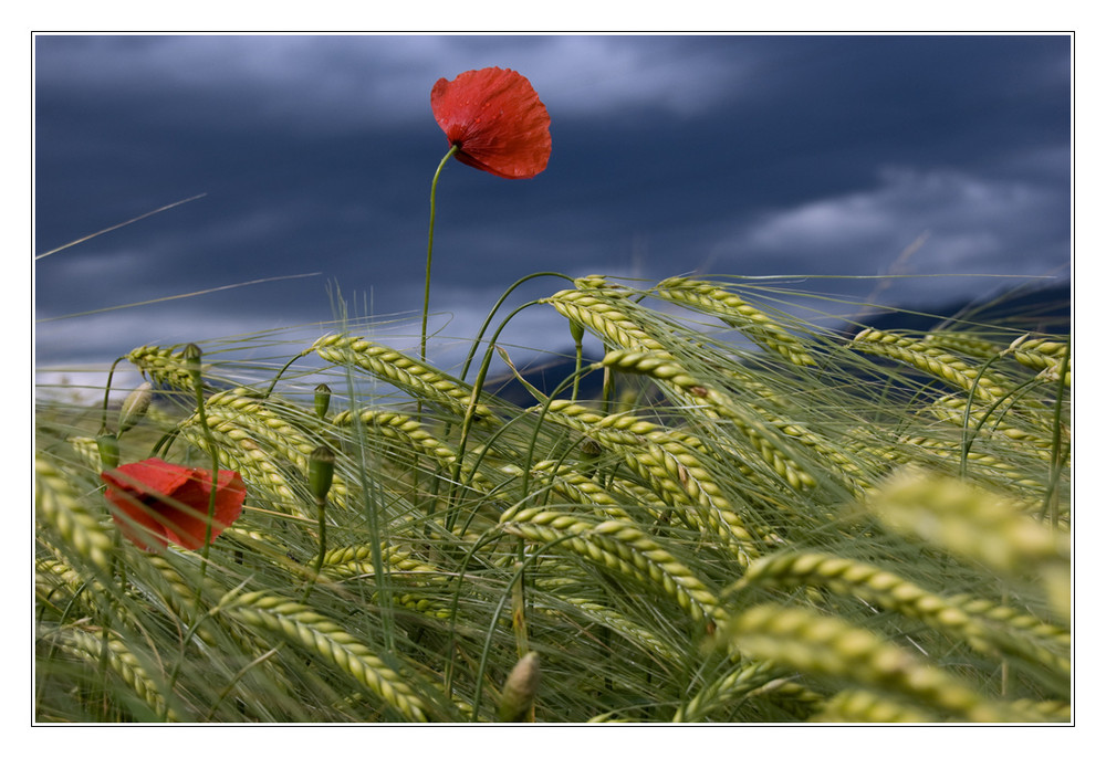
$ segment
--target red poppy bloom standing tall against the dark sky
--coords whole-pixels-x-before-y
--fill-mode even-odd
[[[545,170],[553,149],[550,114],[530,81],[510,69],[466,71],[440,78],[430,107],[457,159],[504,179],[530,179]]]

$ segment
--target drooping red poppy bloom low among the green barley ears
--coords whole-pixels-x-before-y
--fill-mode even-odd
[[[105,471],[104,496],[112,518],[124,536],[145,550],[163,550],[176,543],[189,550],[204,545],[211,472],[187,469],[156,457]],[[211,539],[242,513],[246,485],[237,471],[220,471],[215,485]]]

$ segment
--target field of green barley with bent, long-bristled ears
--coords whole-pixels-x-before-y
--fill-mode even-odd
[[[206,346],[201,420],[181,349],[136,347],[160,401],[122,460],[248,486],[206,566],[119,538],[100,410],[44,401],[36,719],[1070,719],[1066,338],[843,335],[723,281],[545,302],[603,398],[515,407],[334,334],[267,371]]]

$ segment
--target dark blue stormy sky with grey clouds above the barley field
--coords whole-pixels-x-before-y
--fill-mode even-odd
[[[430,180],[448,149],[430,88],[483,66],[530,78],[553,152],[531,180],[456,161],[444,172],[431,291],[444,365],[463,357],[450,339],[473,336],[508,286],[541,271],[939,274],[800,285],[935,307],[1029,281],[968,274],[1070,276],[1067,35],[34,48],[35,254],[205,196],[35,263],[40,367],[300,327],[281,337],[304,340],[291,355],[334,328],[335,286],[356,315],[400,314],[374,336],[416,352]],[[296,278],[60,318],[271,277]],[[564,286],[538,280],[518,302]],[[530,309],[509,336],[567,347],[561,323]]]

